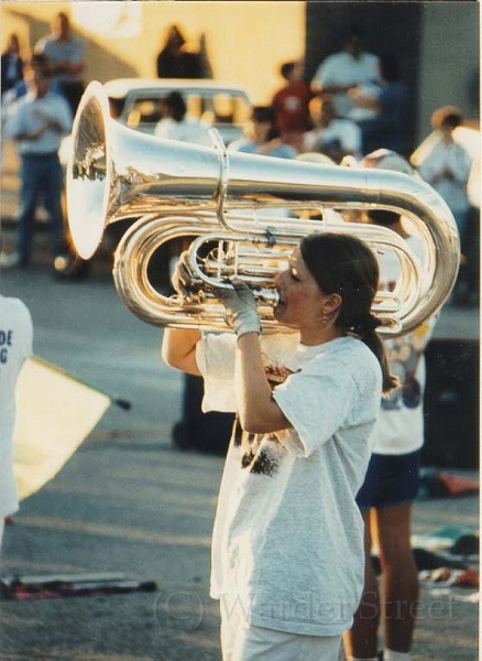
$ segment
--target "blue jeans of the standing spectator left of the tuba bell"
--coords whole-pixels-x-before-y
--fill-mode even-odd
[[[26,266],[32,256],[32,234],[39,203],[42,203],[48,216],[52,254],[65,252],[62,212],[64,176],[57,154],[22,155],[20,178],[17,250],[21,263]]]

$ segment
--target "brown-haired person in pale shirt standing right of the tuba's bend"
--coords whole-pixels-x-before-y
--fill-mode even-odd
[[[438,140],[418,164],[421,178],[443,197],[457,223],[461,243],[461,269],[456,283],[453,302],[463,300],[467,290],[468,219],[470,202],[468,182],[472,159],[465,148],[453,138],[453,131],[463,123],[463,115],[454,106],[438,108],[431,116],[431,126]]]

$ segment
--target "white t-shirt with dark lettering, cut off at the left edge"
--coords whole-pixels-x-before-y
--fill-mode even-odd
[[[0,517],[19,508],[13,474],[15,387],[20,369],[32,354],[32,319],[19,299],[0,294]]]

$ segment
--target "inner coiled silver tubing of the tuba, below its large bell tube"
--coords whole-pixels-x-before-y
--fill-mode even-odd
[[[320,221],[305,221],[303,224],[297,223],[296,229],[293,231],[293,221],[288,223],[286,219],[281,218],[276,223],[276,229],[277,242],[275,246],[270,246],[266,232],[260,227],[250,227],[249,232],[245,228],[230,232],[223,228],[219,229],[219,221],[216,216],[200,219],[196,215],[146,215],[129,228],[121,238],[116,251],[113,279],[117,291],[131,312],[146,323],[157,326],[226,330],[229,327],[224,322],[224,307],[210,293],[210,290],[215,286],[222,286],[226,278],[237,275],[248,280],[251,285],[263,327],[288,330],[273,318],[273,310],[277,303],[277,293],[273,284],[273,271],[277,274],[281,270],[280,267],[277,269],[266,268],[265,264],[261,266],[260,260],[254,259],[250,261],[248,268],[252,270],[252,264],[258,262],[260,266],[256,267],[256,272],[244,277],[243,273],[240,274],[239,272],[240,264],[237,264],[235,272],[230,272],[230,267],[227,270],[226,263],[221,262],[219,267],[221,272],[217,273],[216,277],[210,277],[196,264],[196,257],[202,245],[218,241],[228,241],[231,245],[235,243],[251,250],[251,256],[254,258],[261,249],[265,260],[271,262],[286,261],[294,247],[304,236],[311,231],[324,231],[328,228]],[[407,250],[406,242],[403,239],[385,228],[375,229],[376,231],[370,225],[360,226],[352,223],[343,223],[340,227],[337,226],[337,231],[353,234],[357,230],[358,236],[361,235],[360,238],[365,240],[374,250],[390,248],[398,252],[405,268],[405,282],[408,284],[404,294],[406,300],[401,300],[396,294],[379,292],[373,305],[373,312],[383,325],[380,332],[393,336],[398,335],[402,330],[402,324],[397,321],[397,315],[403,316],[412,310],[415,302],[420,297],[420,269],[412,252]],[[147,278],[147,268],[154,251],[163,243],[184,237],[191,238],[188,248],[190,270],[204,288],[200,300],[193,299],[189,302],[186,300],[180,301],[178,296],[162,294],[152,286]],[[245,263],[245,261],[242,262],[241,258],[241,266]],[[229,286],[229,284],[226,286]]]

